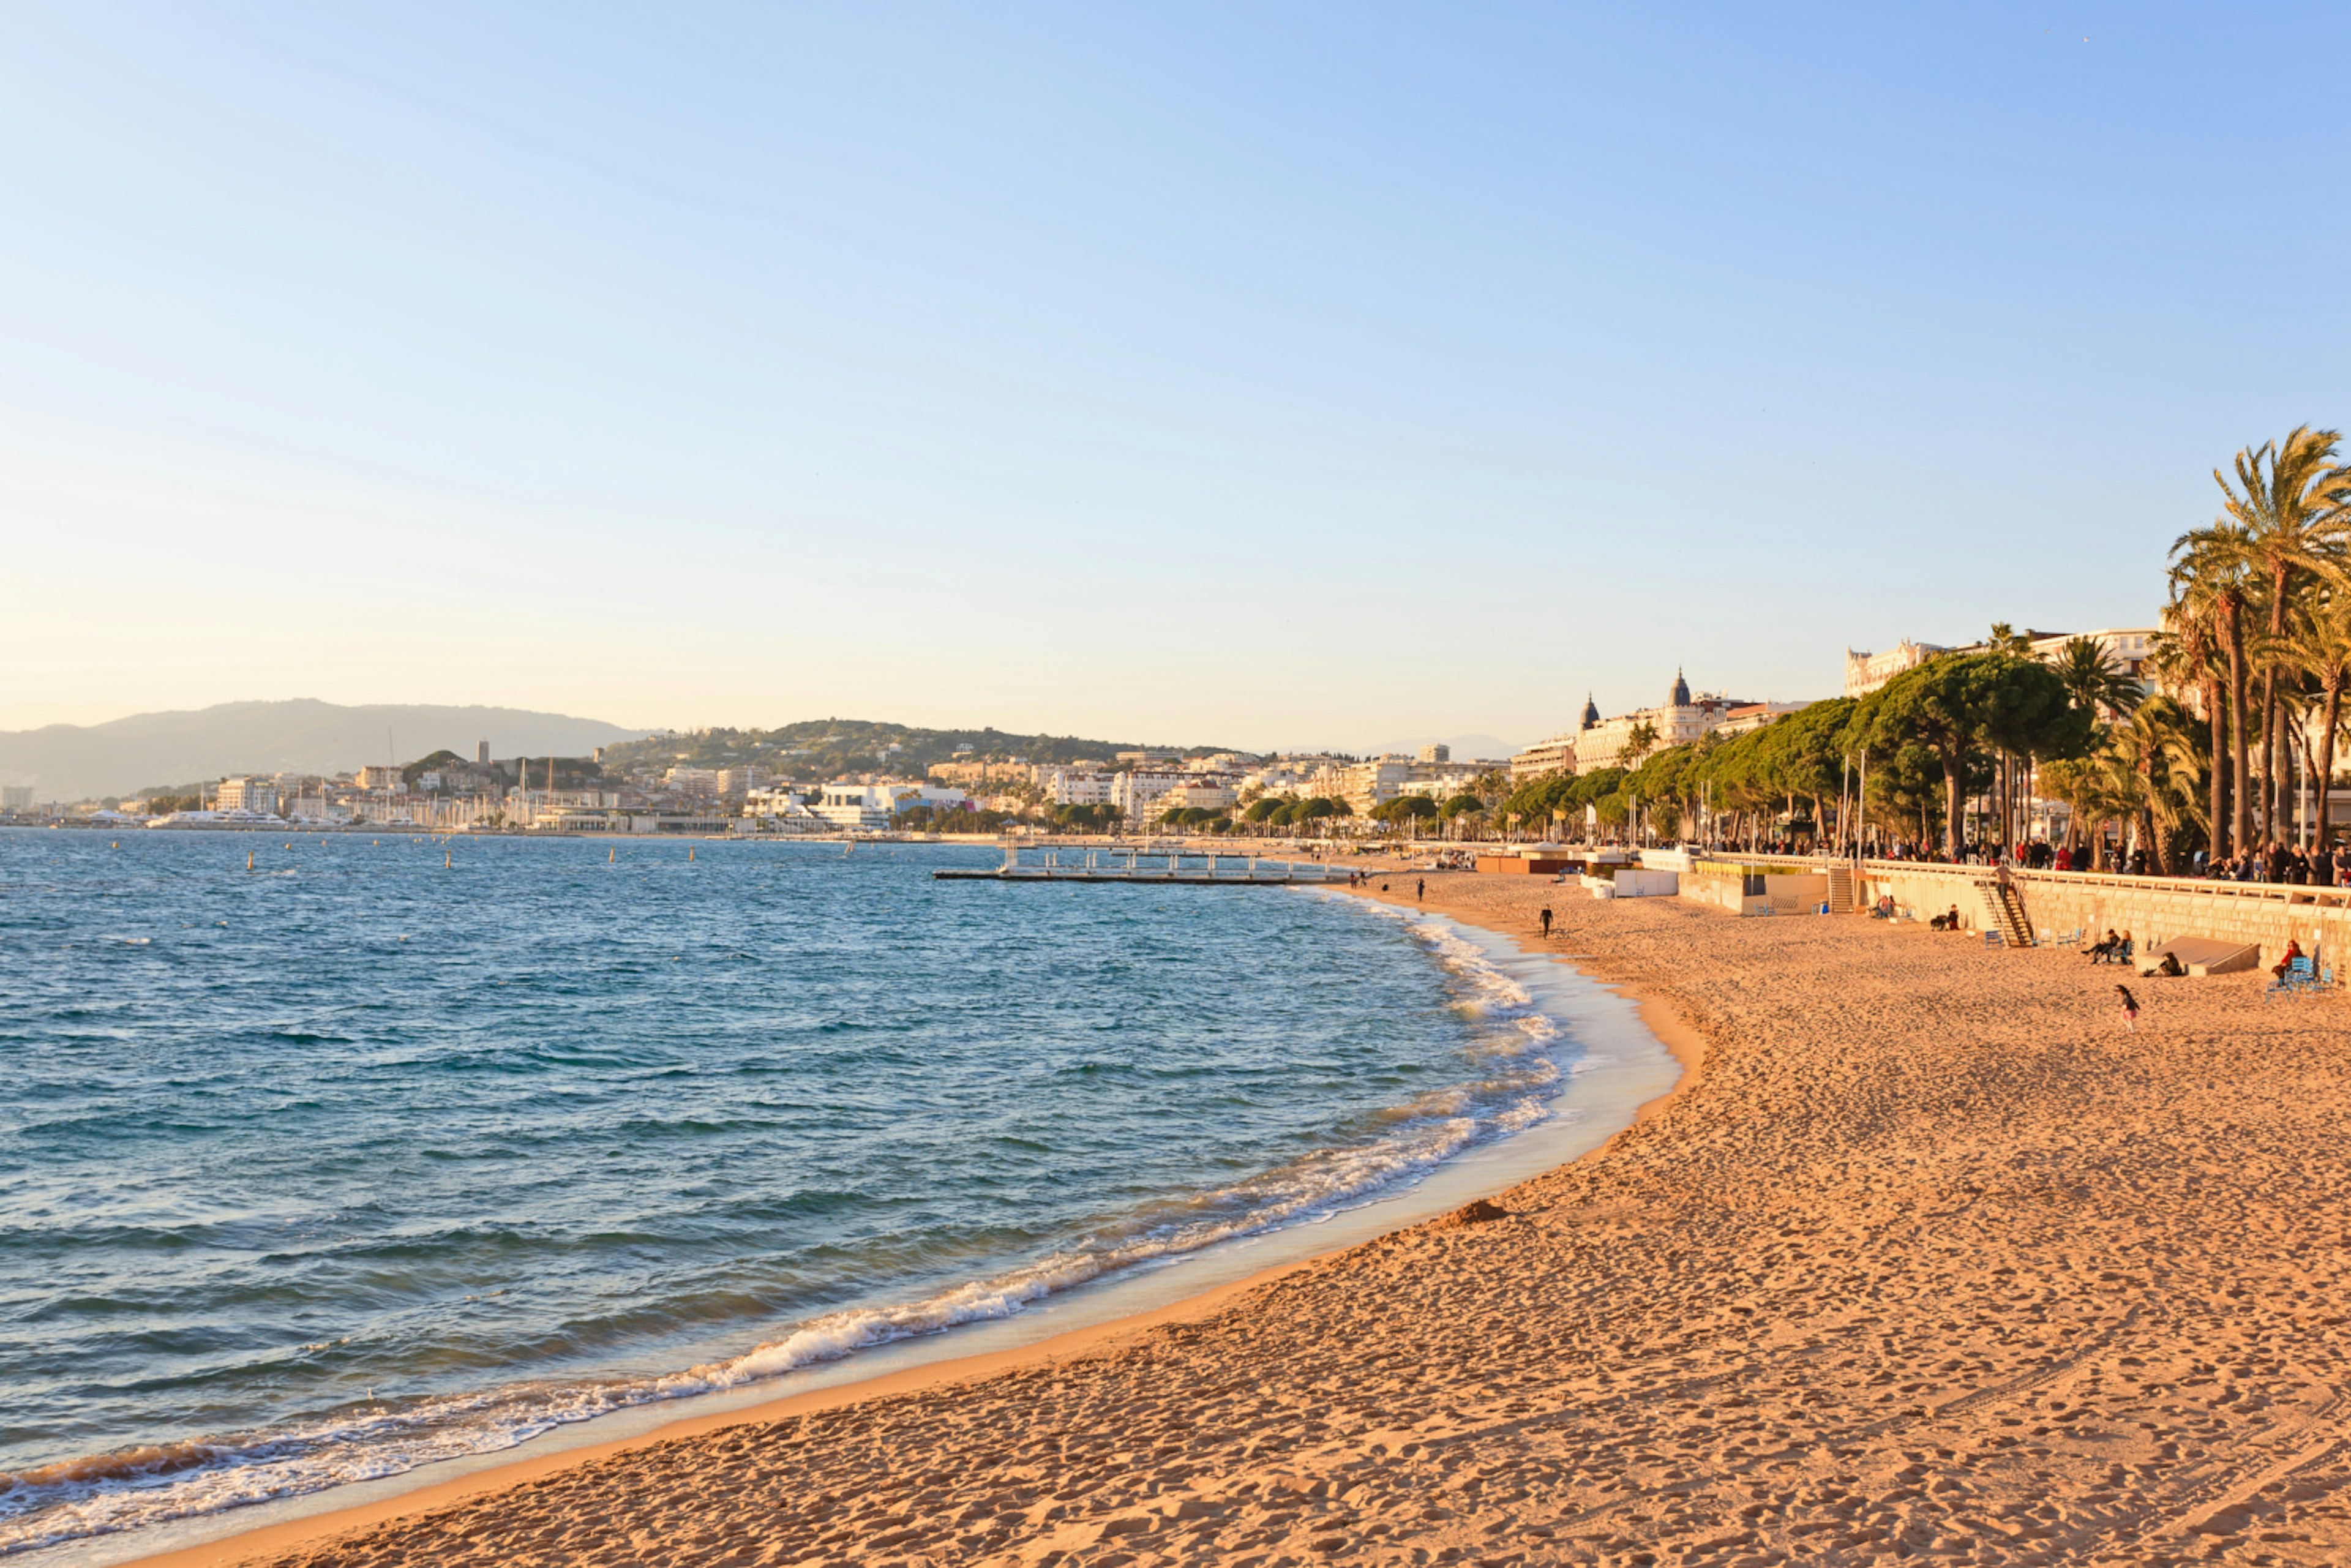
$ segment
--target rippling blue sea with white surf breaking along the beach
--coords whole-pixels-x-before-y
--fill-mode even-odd
[[[1672,1081],[1491,933],[994,863],[0,830],[0,1556],[1178,1295]]]

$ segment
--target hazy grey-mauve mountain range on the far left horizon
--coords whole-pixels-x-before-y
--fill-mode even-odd
[[[581,757],[647,733],[522,708],[219,703],[195,712],[134,712],[108,724],[0,731],[0,783],[28,783],[40,799],[92,799],[228,773],[346,773],[440,748],[473,757],[480,741],[489,741],[491,757]]]

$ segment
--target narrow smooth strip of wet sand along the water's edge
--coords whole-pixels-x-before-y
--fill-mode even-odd
[[[1387,896],[1378,893],[1373,884],[1364,884],[1359,889],[1328,886],[1328,889],[1317,889],[1317,891],[1347,893],[1347,896],[1364,898],[1366,903],[1385,903],[1385,905],[1399,907],[1404,912],[1436,914],[1436,917],[1451,919],[1451,922],[1462,924],[1462,926],[1474,926],[1479,931],[1486,931],[1486,933],[1491,933],[1495,938],[1502,938],[1502,940],[1512,943],[1512,947],[1516,952],[1521,952],[1521,954],[1526,954],[1531,959],[1547,959],[1549,964],[1559,964],[1561,969],[1570,971],[1580,983],[1587,983],[1587,985],[1592,985],[1592,987],[1596,987],[1596,990],[1601,990],[1606,994],[1620,997],[1622,1001],[1632,1004],[1632,1011],[1639,1018],[1641,1027],[1655,1039],[1657,1046],[1665,1048],[1665,1053],[1672,1058],[1672,1063],[1676,1067],[1676,1074],[1674,1074],[1672,1084],[1662,1093],[1641,1098],[1641,1100],[1636,1100],[1629,1107],[1632,1124],[1641,1124],[1641,1121],[1648,1121],[1655,1114],[1660,1114],[1676,1095],[1681,1095],[1697,1079],[1697,1074],[1702,1070],[1702,1063],[1704,1063],[1704,1037],[1697,1034],[1693,1027],[1688,1027],[1679,1018],[1679,1013],[1674,1013],[1665,1001],[1660,1001],[1655,997],[1646,997],[1646,994],[1641,994],[1632,985],[1610,983],[1610,980],[1603,980],[1599,976],[1592,976],[1592,973],[1578,969],[1570,961],[1570,954],[1563,954],[1563,952],[1559,952],[1554,947],[1545,947],[1545,943],[1540,938],[1535,938],[1535,936],[1507,929],[1505,924],[1493,922],[1493,919],[1476,919],[1476,917],[1460,914],[1460,912],[1444,910],[1444,907],[1425,907],[1422,910],[1422,907],[1415,907],[1413,900],[1408,900],[1408,898],[1396,898],[1394,893],[1387,893]],[[1561,1124],[1559,1128],[1552,1128],[1552,1131],[1554,1133],[1566,1133],[1568,1126],[1573,1126],[1573,1124]],[[1476,1161],[1476,1154],[1493,1154],[1493,1152],[1507,1150],[1507,1145],[1516,1143],[1519,1138],[1531,1138],[1531,1135],[1535,1135],[1540,1131],[1542,1128],[1528,1128],[1526,1133],[1516,1133],[1512,1138],[1502,1138],[1502,1140],[1498,1140],[1493,1145],[1483,1145],[1481,1150],[1474,1150],[1472,1154],[1451,1159],[1444,1166],[1429,1171],[1427,1175],[1422,1175],[1422,1178],[1418,1178],[1418,1180],[1399,1187],[1396,1192],[1387,1192],[1387,1194],[1368,1199],[1357,1211],[1375,1211],[1375,1208],[1387,1206],[1387,1204],[1408,1201],[1411,1194],[1418,1187],[1436,1182],[1436,1178],[1446,1175],[1448,1171],[1476,1173],[1479,1164],[1481,1164],[1481,1161]],[[1596,1159],[1599,1154],[1603,1154],[1617,1140],[1620,1133],[1622,1133],[1622,1128],[1610,1131],[1606,1138],[1601,1138],[1592,1147],[1587,1147],[1587,1150],[1568,1157],[1561,1164],[1575,1164],[1575,1161],[1585,1161],[1585,1159]],[[1556,1168],[1556,1164],[1547,1161],[1547,1164],[1540,1166],[1540,1171],[1549,1171],[1549,1168]],[[1389,1222],[1378,1225],[1375,1229],[1371,1229],[1368,1237],[1352,1237],[1352,1239],[1335,1241],[1335,1244],[1328,1244],[1328,1246],[1317,1246],[1314,1251],[1305,1251],[1305,1253],[1298,1253],[1298,1255],[1286,1258],[1281,1262],[1274,1262],[1270,1267],[1253,1269],[1253,1272],[1248,1272],[1248,1274],[1244,1274],[1239,1279],[1227,1279],[1227,1281],[1208,1284],[1204,1288],[1187,1291],[1187,1293],[1183,1293],[1178,1298],[1171,1298],[1171,1300],[1161,1300],[1161,1302],[1154,1302],[1154,1305],[1147,1305],[1147,1307],[1140,1307],[1140,1309],[1133,1309],[1133,1312],[1119,1312],[1117,1316],[1103,1319],[1098,1324],[1084,1324],[1084,1326],[1077,1326],[1077,1328],[1065,1328],[1065,1331],[1051,1333],[1046,1338],[1027,1340],[1023,1345],[1013,1345],[1013,1347],[1006,1347],[1006,1349],[983,1349],[983,1352],[966,1352],[966,1354],[957,1354],[957,1356],[917,1359],[912,1366],[896,1366],[893,1368],[893,1366],[886,1363],[884,1352],[891,1352],[891,1349],[907,1352],[907,1349],[919,1349],[922,1347],[922,1340],[900,1340],[900,1342],[896,1342],[891,1347],[875,1347],[872,1352],[860,1352],[860,1359],[863,1356],[884,1359],[882,1366],[875,1366],[872,1371],[865,1371],[865,1373],[844,1375],[844,1378],[839,1378],[835,1382],[825,1382],[823,1387],[799,1389],[799,1392],[790,1392],[790,1394],[773,1394],[773,1396],[766,1396],[766,1399],[741,1401],[741,1403],[731,1403],[729,1408],[722,1408],[722,1410],[679,1413],[679,1415],[675,1415],[670,1420],[661,1420],[661,1422],[656,1422],[656,1425],[651,1425],[647,1429],[632,1432],[628,1436],[614,1436],[614,1439],[595,1441],[595,1443],[574,1443],[574,1446],[564,1446],[564,1448],[550,1448],[550,1450],[536,1453],[536,1455],[494,1458],[494,1453],[491,1453],[491,1455],[475,1455],[473,1460],[444,1460],[440,1465],[421,1467],[418,1472],[409,1472],[409,1474],[423,1474],[423,1472],[437,1469],[442,1465],[473,1465],[473,1469],[468,1469],[468,1474],[451,1476],[451,1479],[444,1479],[444,1481],[421,1481],[416,1486],[404,1486],[404,1488],[400,1488],[400,1490],[395,1490],[393,1495],[386,1495],[386,1497],[374,1497],[374,1500],[367,1500],[367,1502],[353,1502],[353,1505],[343,1505],[343,1507],[329,1507],[329,1509],[320,1509],[320,1512],[310,1512],[310,1514],[299,1514],[294,1519],[282,1519],[282,1521],[266,1521],[266,1523],[256,1523],[256,1526],[245,1528],[245,1530],[233,1530],[233,1533],[226,1533],[226,1535],[216,1535],[216,1537],[205,1540],[205,1542],[193,1542],[193,1544],[181,1544],[181,1547],[167,1547],[167,1549],[160,1549],[160,1552],[146,1552],[146,1554],[136,1554],[136,1556],[113,1559],[113,1563],[120,1566],[120,1568],[214,1568],[214,1566],[237,1563],[237,1561],[247,1561],[247,1559],[254,1559],[254,1556],[261,1556],[261,1554],[277,1554],[277,1552],[287,1552],[287,1549],[294,1549],[294,1547],[322,1542],[322,1540],[329,1540],[334,1535],[343,1535],[348,1530],[360,1530],[360,1528],[395,1523],[395,1521],[407,1519],[411,1514],[426,1514],[426,1512],[433,1512],[433,1509],[458,1505],[458,1502],[465,1502],[470,1497],[480,1497],[484,1493],[501,1493],[501,1490],[508,1490],[508,1488],[529,1486],[529,1483],[534,1483],[534,1481],[538,1481],[538,1479],[543,1479],[548,1474],[576,1469],[576,1467],[583,1467],[583,1465],[595,1465],[595,1462],[602,1462],[602,1460],[611,1460],[611,1458],[628,1455],[628,1453],[635,1453],[635,1450],[654,1448],[654,1446],[661,1446],[661,1443],[696,1439],[696,1436],[703,1436],[703,1434],[722,1432],[726,1427],[778,1422],[778,1420],[790,1420],[790,1418],[797,1418],[797,1415],[813,1415],[813,1413],[820,1413],[820,1410],[835,1410],[835,1408],[863,1403],[863,1401],[870,1401],[870,1399],[896,1396],[896,1394],[943,1392],[943,1389],[950,1389],[950,1387],[957,1387],[957,1385],[980,1382],[980,1380],[987,1380],[987,1378],[994,1378],[994,1375],[1002,1375],[1002,1373],[1009,1373],[1009,1371],[1018,1371],[1018,1368],[1037,1368],[1037,1366],[1051,1366],[1051,1363],[1058,1363],[1058,1361],[1070,1361],[1070,1359],[1081,1359],[1081,1356],[1091,1356],[1091,1354],[1103,1354],[1103,1352],[1110,1352],[1110,1349],[1114,1349],[1114,1347],[1119,1347],[1119,1345],[1124,1345],[1128,1340],[1147,1335],[1154,1328],[1171,1326],[1171,1324],[1190,1324],[1190,1321],[1204,1319],[1204,1316],[1208,1316],[1213,1312],[1220,1312],[1220,1309],[1225,1309],[1227,1305],[1232,1305],[1241,1295],[1248,1295],[1248,1293],[1253,1293],[1253,1291],[1258,1291],[1262,1286],[1270,1286],[1270,1284],[1274,1284],[1274,1281],[1279,1281],[1279,1279],[1284,1279],[1288,1274],[1295,1274],[1300,1269],[1312,1269],[1312,1267],[1326,1265],[1333,1258],[1340,1258],[1340,1255],[1345,1255],[1345,1253],[1364,1246],[1366,1241],[1378,1241],[1380,1237],[1389,1237],[1389,1234],[1411,1229],[1415,1225],[1429,1225],[1432,1220],[1441,1220],[1444,1215],[1453,1213],[1460,1206],[1460,1204],[1453,1204],[1453,1199],[1462,1199],[1462,1201],[1493,1199],[1500,1192],[1509,1192],[1512,1187],[1523,1185],[1526,1180],[1528,1180],[1528,1173],[1502,1178],[1498,1185],[1472,1182],[1474,1190],[1467,1190],[1467,1197],[1465,1197],[1465,1192],[1453,1192],[1446,1199],[1446,1204],[1439,1206],[1439,1208],[1413,1206],[1415,1208],[1413,1213],[1387,1215]],[[1462,1182],[1441,1182],[1441,1185],[1460,1187]],[[1310,1234],[1312,1229],[1317,1229],[1317,1227],[1288,1225],[1288,1227],[1281,1227],[1279,1232],[1265,1232],[1265,1237],[1279,1237],[1284,1232],[1298,1237],[1298,1234]],[[1265,1239],[1265,1237],[1258,1237],[1258,1239]],[[1140,1284],[1140,1276],[1133,1276],[1133,1279],[1126,1279],[1126,1281],[1105,1281],[1105,1284],[1110,1284],[1110,1286],[1117,1286],[1117,1284],[1133,1286],[1133,1284]],[[1037,1314],[1030,1314],[1030,1316],[1034,1321]],[[1011,1319],[994,1319],[990,1324],[969,1324],[969,1326],[964,1326],[964,1331],[985,1333],[987,1328],[1006,1328],[1006,1326],[1016,1326],[1016,1324],[1020,1324],[1018,1314],[1011,1316]],[[964,1338],[973,1338],[973,1333],[966,1333]],[[837,1371],[851,1371],[853,1366],[856,1366],[856,1361],[835,1363]],[[703,1396],[703,1399],[712,1399],[712,1396]],[[649,1406],[637,1406],[639,1418],[642,1418],[644,1410],[649,1410]],[[625,1413],[616,1413],[616,1415],[625,1415]],[[600,1420],[609,1422],[614,1418],[600,1418]],[[397,1483],[397,1481],[400,1481],[400,1476],[388,1476],[386,1481],[379,1481],[379,1483],[355,1483],[355,1486],[386,1486],[386,1483]],[[331,1497],[339,1490],[353,1490],[353,1488],[331,1488],[327,1493],[310,1493],[310,1497]],[[299,1505],[301,1500],[284,1500],[284,1502],[287,1505]],[[259,1507],[270,1507],[270,1505],[259,1505]],[[233,1516],[233,1512],[228,1516]],[[169,1521],[169,1523],[165,1523],[160,1528],[200,1526],[202,1519],[207,1519],[207,1516],[195,1516],[195,1519],[188,1519],[188,1521]],[[221,1514],[214,1514],[209,1519],[221,1519]],[[92,1554],[94,1549],[101,1549],[101,1542],[106,1542],[106,1540],[108,1540],[106,1535],[75,1537],[75,1540],[56,1542],[52,1547],[28,1549],[28,1552],[21,1554],[21,1559],[28,1561],[28,1568],[47,1568],[52,1561],[66,1561],[75,1552]]]

